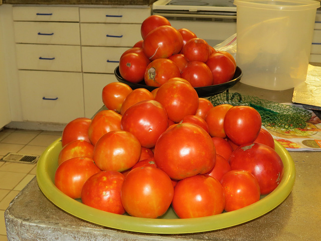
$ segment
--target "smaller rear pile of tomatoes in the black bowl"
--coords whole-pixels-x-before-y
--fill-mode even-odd
[[[230,53],[216,51],[188,29],[175,29],[170,22],[152,15],[141,24],[142,40],[119,60],[123,79],[159,87],[171,78],[183,78],[193,87],[230,81],[236,62]]]

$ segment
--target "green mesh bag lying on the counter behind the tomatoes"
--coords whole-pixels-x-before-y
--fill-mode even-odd
[[[261,115],[262,125],[282,129],[306,127],[306,122],[312,113],[306,109],[260,99],[255,96],[241,95],[240,93],[224,92],[208,98],[214,106],[219,104],[248,105],[255,108]]]

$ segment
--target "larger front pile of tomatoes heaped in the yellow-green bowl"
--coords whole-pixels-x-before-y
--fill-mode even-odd
[[[283,163],[250,106],[213,106],[185,79],[157,91],[114,82],[107,109],[65,127],[55,185],[107,212],[180,218],[250,205],[273,191]]]

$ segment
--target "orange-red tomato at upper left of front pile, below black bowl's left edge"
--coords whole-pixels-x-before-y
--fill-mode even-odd
[[[102,89],[102,102],[108,109],[119,113],[124,99],[131,91],[131,87],[125,83],[109,83]]]

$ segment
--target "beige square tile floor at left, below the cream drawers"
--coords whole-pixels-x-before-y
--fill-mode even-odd
[[[8,153],[41,155],[61,132],[0,130],[0,159]],[[12,199],[36,176],[37,164],[0,161],[0,241],[7,240],[5,210]]]

